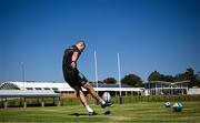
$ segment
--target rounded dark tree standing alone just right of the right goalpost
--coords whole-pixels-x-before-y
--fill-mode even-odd
[[[140,76],[136,75],[136,74],[128,74],[126,75],[122,80],[121,83],[123,84],[128,84],[131,86],[142,86],[142,80]]]

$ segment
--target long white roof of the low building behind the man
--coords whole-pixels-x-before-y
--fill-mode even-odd
[[[143,88],[131,88],[122,84],[92,84],[96,91],[142,91]],[[59,90],[59,91],[74,91],[66,82],[3,82],[0,84],[0,90]],[[83,89],[83,91],[86,91]]]

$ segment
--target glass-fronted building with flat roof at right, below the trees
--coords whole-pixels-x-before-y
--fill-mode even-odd
[[[188,94],[188,83],[190,81],[163,82],[150,81],[144,84],[146,95],[169,95],[169,94]]]

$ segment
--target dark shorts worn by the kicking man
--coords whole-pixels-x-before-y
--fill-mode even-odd
[[[88,82],[88,79],[78,69],[70,66],[63,69],[63,76],[66,82],[74,90],[80,90]]]

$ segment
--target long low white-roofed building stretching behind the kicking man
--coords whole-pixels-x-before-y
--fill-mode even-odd
[[[110,92],[112,96],[122,95],[143,95],[144,88],[132,88],[126,84],[121,85],[119,89],[118,84],[92,84],[96,91],[100,95],[103,92]],[[0,84],[0,90],[59,90],[62,93],[62,98],[74,98],[74,90],[66,82],[3,82]],[[83,89],[83,91],[86,91]]]

